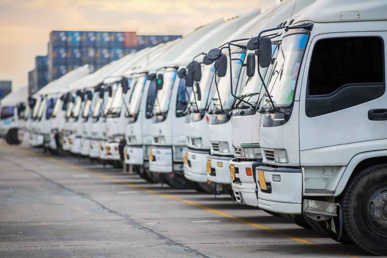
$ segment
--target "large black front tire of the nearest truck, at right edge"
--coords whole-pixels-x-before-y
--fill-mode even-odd
[[[342,199],[344,227],[360,248],[387,255],[387,164],[368,167],[347,184]]]

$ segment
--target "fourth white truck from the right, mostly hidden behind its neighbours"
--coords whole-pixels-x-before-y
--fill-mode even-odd
[[[217,28],[219,39],[232,40],[238,37],[241,27],[252,27],[259,16],[260,9],[253,10],[248,14],[238,16],[222,27]],[[183,167],[185,178],[198,182],[200,186],[209,190],[207,185],[206,162],[210,154],[209,142],[209,116],[207,107],[212,97],[216,96],[215,66],[217,62],[202,65],[202,78],[199,84],[200,92],[192,92],[190,105],[186,110],[184,131],[187,140],[187,147],[183,149]],[[230,189],[231,190],[231,189]]]

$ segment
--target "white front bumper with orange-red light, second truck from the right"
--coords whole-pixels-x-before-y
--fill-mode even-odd
[[[231,183],[236,201],[250,206],[258,206],[256,185],[253,176],[247,176],[246,168],[252,169],[254,161],[231,160],[229,164],[235,167],[235,181]],[[236,173],[238,171],[238,173]]]

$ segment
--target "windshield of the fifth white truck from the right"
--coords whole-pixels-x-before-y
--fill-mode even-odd
[[[164,73],[163,89],[157,92],[157,98],[154,102],[153,113],[164,113],[168,111],[173,83],[176,79],[176,71],[169,71]]]

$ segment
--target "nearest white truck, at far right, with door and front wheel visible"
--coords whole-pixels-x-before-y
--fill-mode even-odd
[[[290,26],[260,32],[286,31],[253,125],[258,206],[303,214],[375,255],[387,255],[386,11],[385,1],[317,0]],[[260,38],[260,67],[269,48]]]

